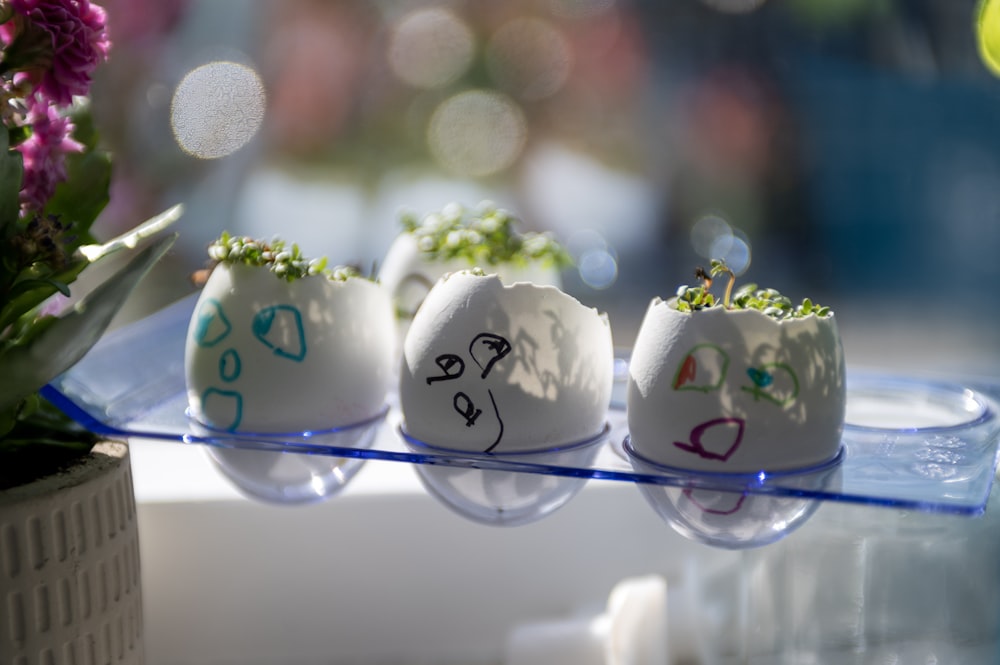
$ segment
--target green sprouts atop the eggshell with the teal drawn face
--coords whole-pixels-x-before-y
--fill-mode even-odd
[[[219,239],[208,246],[208,256],[215,263],[241,263],[267,268],[288,282],[317,275],[337,282],[361,276],[361,271],[353,266],[328,268],[326,257],[306,258],[298,245],[288,245],[280,238],[274,238],[268,243],[247,236],[231,235],[228,231],[223,231]]]

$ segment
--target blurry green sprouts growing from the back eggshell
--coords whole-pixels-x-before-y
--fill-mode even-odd
[[[401,222],[432,260],[465,259],[471,265],[541,261],[557,268],[572,264],[569,253],[550,234],[519,233],[518,220],[491,201],[474,210],[449,203],[422,219],[404,212]]]

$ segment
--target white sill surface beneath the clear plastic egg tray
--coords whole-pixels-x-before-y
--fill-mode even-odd
[[[515,625],[603,606],[626,577],[737,561],[674,534],[627,483],[497,528],[405,463],[368,462],[304,507],[241,498],[197,446],[137,441],[133,464],[150,665],[499,663]]]

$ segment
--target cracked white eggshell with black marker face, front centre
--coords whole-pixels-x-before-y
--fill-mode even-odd
[[[442,278],[403,344],[408,435],[468,452],[527,452],[604,428],[614,350],[606,316],[552,286]]]

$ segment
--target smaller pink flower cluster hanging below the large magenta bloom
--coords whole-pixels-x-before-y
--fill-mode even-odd
[[[17,146],[24,157],[21,203],[28,209],[41,210],[56,185],[66,179],[66,154],[81,152],[83,146],[71,138],[73,123],[58,107],[37,95],[27,102],[26,120],[32,134]]]

